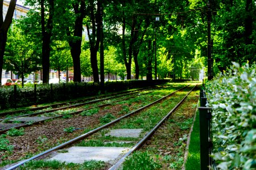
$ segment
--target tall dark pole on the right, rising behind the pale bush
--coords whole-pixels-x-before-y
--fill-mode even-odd
[[[210,0],[207,2],[207,24],[208,24],[208,45],[207,45],[207,66],[208,66],[208,80],[213,78],[213,59],[212,59],[212,40],[210,39],[210,21],[212,19],[211,3]]]

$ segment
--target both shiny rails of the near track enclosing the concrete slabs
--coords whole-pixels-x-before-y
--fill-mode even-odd
[[[195,87],[196,87],[196,86],[195,86]],[[195,87],[193,87],[193,88],[195,88]],[[177,91],[181,91],[181,90],[183,90],[184,88],[185,88],[185,87],[180,88],[180,89],[177,90]],[[192,88],[192,90],[193,90],[193,88]],[[192,90],[191,90],[191,91],[192,91]],[[47,150],[47,151],[42,152],[41,154],[35,155],[35,156],[33,156],[32,158],[27,159],[27,160],[24,160],[24,161],[22,161],[22,162],[20,162],[20,163],[18,163],[18,164],[15,164],[14,166],[11,166],[11,167],[9,167],[9,168],[7,168],[7,169],[14,169],[14,168],[17,168],[17,167],[19,167],[20,165],[23,165],[24,163],[29,162],[30,160],[38,159],[38,158],[40,158],[40,157],[43,156],[43,155],[49,154],[49,152],[59,150],[60,148],[70,146],[70,145],[72,145],[73,143],[76,143],[77,141],[81,141],[81,139],[84,139],[84,138],[86,138],[86,137],[89,137],[90,135],[95,134],[97,131],[100,131],[100,130],[102,130],[102,129],[106,128],[106,127],[109,127],[109,126],[113,126],[113,124],[117,123],[118,121],[123,120],[124,118],[128,118],[128,117],[130,117],[130,116],[133,116],[135,113],[142,112],[142,111],[144,111],[145,109],[147,109],[148,107],[152,107],[152,105],[156,105],[156,104],[158,104],[159,102],[161,102],[161,101],[163,101],[163,100],[166,100],[166,99],[167,99],[168,97],[170,97],[171,95],[174,95],[177,91],[172,92],[171,94],[168,94],[168,95],[162,97],[161,99],[158,99],[158,100],[156,100],[156,101],[154,101],[154,102],[152,102],[152,103],[150,103],[150,104],[147,104],[147,105],[145,105],[144,107],[141,107],[141,108],[139,108],[139,109],[137,109],[137,110],[135,110],[135,111],[133,111],[133,112],[130,112],[130,113],[128,113],[128,114],[125,114],[124,116],[121,116],[121,117],[119,117],[119,118],[117,118],[117,119],[115,119],[115,120],[109,122],[108,124],[105,124],[105,125],[102,125],[102,126],[96,128],[96,129],[90,130],[89,132],[87,132],[87,133],[85,133],[85,134],[82,134],[82,135],[80,135],[79,137],[73,138],[73,139],[70,140],[70,141],[64,142],[63,144],[61,144],[61,145],[59,145],[59,146],[53,147],[53,148],[51,148],[51,149],[49,149],[49,150]],[[189,91],[188,94],[189,94],[191,91]],[[128,153],[131,154],[133,151],[137,150],[137,149],[144,143],[144,141],[146,141],[146,140],[152,135],[152,133],[164,122],[164,120],[165,120],[168,116],[170,116],[170,114],[171,114],[177,107],[179,107],[179,105],[183,102],[183,100],[185,100],[185,98],[188,96],[188,94],[183,97],[183,99],[172,109],[171,112],[169,112],[166,116],[164,116],[164,118],[163,118],[152,130],[150,130],[150,133],[147,133],[147,134],[146,134],[146,136],[143,138],[143,141],[142,141],[142,140],[139,141],[138,144],[137,144],[136,146],[134,146]],[[128,154],[128,153],[127,153],[127,154]],[[125,155],[125,157],[128,156],[127,154]],[[112,167],[111,169],[113,169],[113,168],[115,169],[115,168],[119,167],[119,165],[122,164],[122,162],[123,162],[123,160],[125,159],[125,157],[123,157],[122,159],[120,159],[120,160],[117,162],[117,164],[113,165],[113,167]]]

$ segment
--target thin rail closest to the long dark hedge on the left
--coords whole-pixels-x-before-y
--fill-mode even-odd
[[[40,109],[45,109],[47,107],[57,107],[58,105],[65,105],[67,103],[76,103],[76,102],[80,102],[80,101],[87,101],[87,100],[97,99],[97,98],[100,98],[100,97],[113,96],[113,95],[119,95],[119,94],[131,94],[130,92],[144,91],[144,90],[150,90],[150,89],[154,89],[154,88],[161,88],[161,87],[155,87],[154,86],[154,87],[149,87],[149,88],[147,88],[147,87],[146,88],[139,88],[137,90],[131,90],[131,91],[128,91],[128,92],[127,91],[117,92],[117,93],[113,93],[113,94],[109,94],[109,95],[94,96],[94,97],[89,97],[89,98],[86,98],[86,99],[75,100],[75,101],[66,101],[66,102],[63,102],[63,103],[50,104],[50,105],[46,105],[46,106],[42,106],[42,107],[20,109],[18,111],[11,111],[11,112],[2,112],[2,113],[0,113],[0,116],[5,116],[5,115],[10,114],[10,113],[14,114],[14,113],[19,113],[19,112],[25,112],[27,110],[37,111],[37,110],[40,110]]]

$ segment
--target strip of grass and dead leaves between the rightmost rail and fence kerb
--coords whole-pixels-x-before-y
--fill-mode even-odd
[[[187,136],[197,106],[196,93],[199,92],[192,92],[188,96],[185,103],[177,108],[146,145],[126,159],[122,169],[181,169]],[[199,169],[200,166],[195,167],[193,169]]]

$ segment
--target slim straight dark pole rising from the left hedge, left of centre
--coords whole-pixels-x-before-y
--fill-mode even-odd
[[[100,70],[101,70],[101,94],[104,94],[104,49],[103,49],[103,7],[100,0]]]

